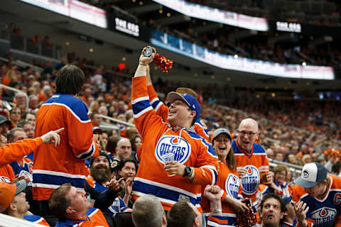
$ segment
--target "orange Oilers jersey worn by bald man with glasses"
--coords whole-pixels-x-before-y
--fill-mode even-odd
[[[244,167],[247,174],[241,179],[241,185],[244,198],[252,200],[253,206],[256,207],[258,201],[256,192],[258,192],[261,175],[259,169],[269,170],[269,160],[266,157],[264,148],[254,143],[251,153],[246,153],[239,147],[237,140],[232,141],[232,149],[236,158],[237,167]]]

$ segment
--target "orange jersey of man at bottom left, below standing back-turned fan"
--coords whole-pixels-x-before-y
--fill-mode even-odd
[[[90,207],[87,214],[82,219],[71,220],[67,219],[65,221],[57,221],[55,227],[66,227],[66,226],[82,226],[82,227],[109,227],[107,221],[102,214],[102,211]]]

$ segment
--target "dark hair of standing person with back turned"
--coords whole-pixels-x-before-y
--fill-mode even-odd
[[[59,94],[79,94],[85,82],[84,72],[77,66],[68,64],[58,71],[56,92]]]

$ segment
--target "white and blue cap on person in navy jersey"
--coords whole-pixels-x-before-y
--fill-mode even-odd
[[[327,178],[327,169],[318,162],[308,163],[303,166],[301,177],[295,183],[301,187],[314,187],[318,182]]]

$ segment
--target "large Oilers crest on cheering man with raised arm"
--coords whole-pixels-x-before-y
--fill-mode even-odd
[[[164,164],[163,155],[174,154],[174,160],[185,163],[190,157],[191,146],[184,138],[175,135],[163,135],[155,148],[155,156]]]

